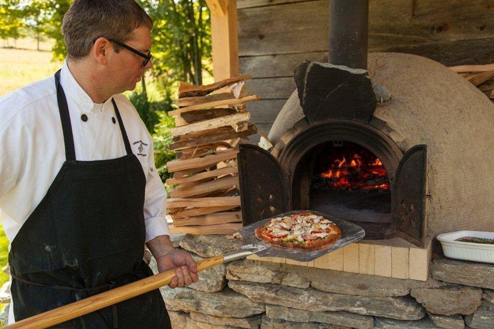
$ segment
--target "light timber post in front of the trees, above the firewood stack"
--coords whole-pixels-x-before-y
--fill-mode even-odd
[[[214,81],[239,73],[237,0],[206,0],[211,12]]]

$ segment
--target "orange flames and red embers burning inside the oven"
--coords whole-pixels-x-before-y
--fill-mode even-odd
[[[363,161],[362,156],[357,153],[351,158],[340,155],[320,176],[329,180],[325,184],[330,188],[348,191],[389,190],[387,172],[381,160],[373,155],[366,156],[366,159],[367,161]]]

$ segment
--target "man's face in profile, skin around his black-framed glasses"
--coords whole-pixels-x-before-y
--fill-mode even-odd
[[[133,31],[132,38],[124,43],[143,54],[147,54],[151,49],[151,31],[146,27],[139,27]],[[115,89],[118,92],[134,90],[136,83],[141,80],[144,70],[153,65],[149,61],[143,68],[144,58],[123,47],[115,54],[115,59],[117,60],[113,62],[115,65],[112,65],[114,72],[111,76],[115,77]]]

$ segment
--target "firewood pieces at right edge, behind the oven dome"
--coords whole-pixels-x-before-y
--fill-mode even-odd
[[[461,74],[494,102],[494,64],[460,65],[450,69]]]

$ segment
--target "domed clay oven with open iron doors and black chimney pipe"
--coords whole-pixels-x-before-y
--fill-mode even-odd
[[[492,231],[493,103],[432,60],[368,56],[361,2],[331,8],[333,64],[296,68],[297,90],[268,136],[274,147],[240,146],[244,224],[312,209],[357,222],[367,239],[417,246],[442,232]]]

